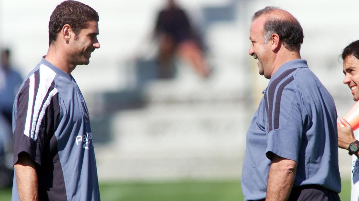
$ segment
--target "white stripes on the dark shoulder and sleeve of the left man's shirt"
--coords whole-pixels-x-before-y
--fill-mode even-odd
[[[32,78],[33,80],[34,80],[34,76],[35,75],[31,75],[31,77],[33,77]],[[43,105],[42,108],[41,108],[41,104],[44,101],[44,99],[47,95],[47,91],[50,88],[52,81],[55,79],[55,76],[56,76],[56,73],[53,70],[51,70],[51,68],[45,66],[44,64],[41,64],[41,66],[39,68],[39,79],[40,79],[39,80],[39,88],[38,88],[38,91],[36,94],[35,102],[33,102],[34,96],[33,95],[31,96],[31,92],[32,92],[32,94],[34,94],[35,86],[33,84],[33,85],[30,85],[30,87],[29,87],[30,88],[29,89],[29,106],[28,106],[29,108],[28,108],[28,113],[27,113],[27,117],[26,117],[26,124],[28,122],[30,124],[31,116],[32,116],[32,123],[31,123],[31,128],[29,128],[30,125],[26,126],[26,124],[25,124],[24,134],[27,135],[28,137],[32,138],[34,141],[37,140],[37,134],[38,134],[38,131],[35,134],[35,130],[37,127],[36,121],[38,122],[38,124],[41,124],[41,121],[43,118],[43,115],[42,116],[40,115],[39,116],[40,118],[37,119],[38,114],[42,110],[44,110],[44,113],[45,113],[46,107],[48,106],[48,104],[50,104],[50,101],[47,105],[45,102],[45,104]],[[30,79],[30,81],[31,81],[31,79]],[[56,92],[54,92],[54,90],[52,90],[51,92],[52,92],[52,95],[50,93],[48,96],[50,98],[50,100],[51,100],[51,97],[57,93],[57,90],[56,90]],[[31,104],[30,104],[30,102],[31,102]],[[31,113],[32,106],[34,106],[34,111]],[[29,110],[30,110],[30,113],[29,113]],[[29,129],[31,129],[31,130],[29,130]],[[29,131],[30,131],[30,136],[29,136]]]

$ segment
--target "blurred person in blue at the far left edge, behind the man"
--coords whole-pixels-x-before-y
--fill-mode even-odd
[[[13,183],[14,170],[9,169],[6,155],[12,151],[11,123],[15,95],[22,83],[20,74],[12,69],[10,50],[0,51],[0,187],[10,187]],[[12,159],[12,157],[11,157]]]

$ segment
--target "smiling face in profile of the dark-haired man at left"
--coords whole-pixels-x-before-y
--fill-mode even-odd
[[[90,63],[91,53],[100,48],[97,35],[98,22],[89,21],[88,27],[81,29],[71,42],[71,63],[75,65],[87,65]]]

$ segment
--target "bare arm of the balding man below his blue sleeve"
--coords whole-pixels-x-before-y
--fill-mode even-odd
[[[296,163],[294,166],[288,166],[283,162],[272,163],[268,176],[266,201],[288,200],[296,171]]]

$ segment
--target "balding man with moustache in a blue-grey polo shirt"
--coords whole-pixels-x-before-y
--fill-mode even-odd
[[[246,135],[244,200],[340,200],[334,100],[300,57],[303,30],[287,11],[257,11],[249,54],[270,79]]]

